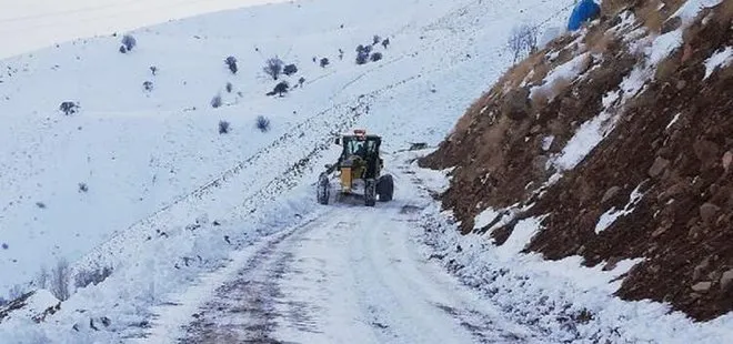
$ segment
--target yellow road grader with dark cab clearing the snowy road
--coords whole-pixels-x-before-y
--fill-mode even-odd
[[[368,135],[365,130],[354,130],[353,134],[337,138],[335,144],[343,149],[339,161],[325,165],[325,172],[319,176],[318,202],[329,204],[332,195],[335,202],[344,196],[363,198],[366,206],[374,206],[378,199],[380,202],[392,201],[394,180],[390,174],[382,174],[382,138]]]

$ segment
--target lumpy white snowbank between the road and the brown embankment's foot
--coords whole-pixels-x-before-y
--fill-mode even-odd
[[[542,343],[712,344],[733,337],[731,313],[695,323],[666,304],[613,296],[621,285],[619,277],[641,259],[623,260],[603,271],[605,264],[581,267],[580,256],[545,261],[536,253],[516,254],[542,230],[538,219],[518,224],[519,233],[513,233],[504,247],[490,244],[482,235],[461,235],[450,214],[439,209],[431,204],[421,214],[424,230],[418,235],[428,245],[425,255],[436,257],[460,281],[483,291],[509,320],[542,333]],[[572,321],[583,314],[590,318]]]

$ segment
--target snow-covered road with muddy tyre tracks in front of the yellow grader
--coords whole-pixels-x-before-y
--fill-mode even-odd
[[[332,205],[270,237],[193,314],[182,342],[532,342],[421,253],[416,210]]]

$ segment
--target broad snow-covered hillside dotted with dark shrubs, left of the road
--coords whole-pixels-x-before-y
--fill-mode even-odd
[[[368,128],[388,152],[435,144],[511,64],[512,28],[562,24],[571,3],[299,1],[141,29],[128,53],[108,37],[0,62],[0,290],[32,289],[61,259],[72,275],[110,266],[52,323],[29,328],[78,342],[69,324],[86,333],[90,316],[116,314],[114,331],[90,337],[139,335],[165,295],[313,210],[283,194],[310,192],[334,133]],[[390,40],[374,45],[383,59],[358,65],[357,45],[375,34]],[[277,82],[262,65],[274,55],[298,65],[291,85],[305,79],[283,98],[265,97]],[[80,111],[62,114],[64,101]],[[6,325],[16,321],[0,332],[22,335]]]

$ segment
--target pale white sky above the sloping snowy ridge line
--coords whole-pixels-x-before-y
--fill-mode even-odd
[[[0,58],[77,38],[124,32],[188,18],[282,0],[0,0]]]

